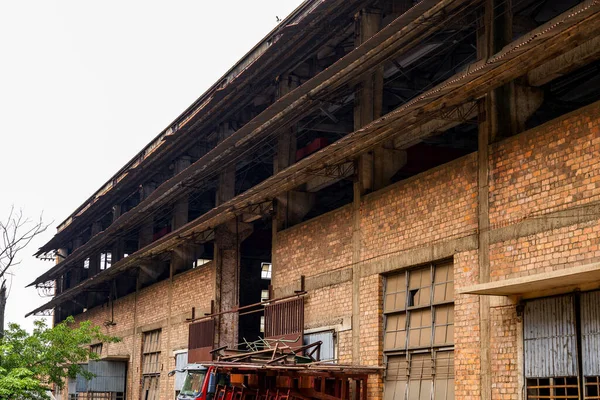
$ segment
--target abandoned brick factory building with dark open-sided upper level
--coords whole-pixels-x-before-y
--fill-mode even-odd
[[[363,398],[599,399],[599,35],[600,0],[305,1],[39,250],[29,314],[122,338],[58,397],[296,337]]]

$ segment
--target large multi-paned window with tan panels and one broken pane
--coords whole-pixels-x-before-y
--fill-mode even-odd
[[[386,277],[385,399],[454,399],[451,262]]]

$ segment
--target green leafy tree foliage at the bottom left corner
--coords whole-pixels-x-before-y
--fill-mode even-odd
[[[66,378],[91,379],[81,363],[99,356],[89,345],[117,341],[90,321],[76,324],[73,317],[53,328],[36,321],[32,334],[9,324],[0,339],[0,399],[44,399],[52,384],[62,388]]]

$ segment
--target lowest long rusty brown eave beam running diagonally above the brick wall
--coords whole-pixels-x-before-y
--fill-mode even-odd
[[[598,35],[600,0],[588,0],[505,46],[488,60],[468,66],[465,71],[406,105],[284,169],[177,231],[138,250],[110,269],[61,293],[27,315],[61,304],[82,290],[113,279],[123,271],[135,267],[143,257],[169,251],[180,243],[181,238],[219,225],[235,217],[246,207],[272,199],[278,193],[306,183],[314,171],[350,160],[396,136],[402,138],[400,144],[412,142],[419,137],[419,126],[426,121],[443,115],[448,109],[481,98],[489,91]]]

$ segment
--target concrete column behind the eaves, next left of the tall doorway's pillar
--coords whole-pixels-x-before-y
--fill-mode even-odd
[[[191,157],[181,157],[175,161],[175,175],[182,172],[192,163]],[[189,213],[189,196],[179,198],[173,205],[173,216],[171,219],[171,228],[176,230],[188,223]],[[183,244],[171,253],[171,271],[170,276],[173,277],[177,272],[182,271],[186,266],[191,265],[194,259],[194,247]]]

